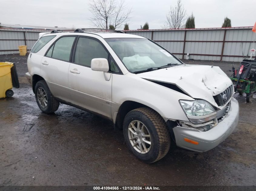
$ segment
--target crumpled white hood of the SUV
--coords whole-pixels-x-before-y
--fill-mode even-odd
[[[218,66],[179,65],[151,72],[137,74],[151,81],[176,84],[182,91],[194,99],[204,99],[219,107],[213,96],[227,89],[232,81]]]

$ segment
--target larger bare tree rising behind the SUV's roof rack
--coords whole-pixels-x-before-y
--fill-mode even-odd
[[[120,28],[131,13],[124,0],[91,0],[89,10],[93,14],[91,22],[98,28],[106,29],[109,25]]]

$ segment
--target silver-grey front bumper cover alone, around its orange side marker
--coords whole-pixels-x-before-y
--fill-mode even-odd
[[[225,118],[209,131],[202,132],[181,126],[174,127],[173,132],[177,146],[191,151],[204,152],[224,141],[236,128],[239,118],[238,101],[232,97],[230,103],[230,109]],[[186,142],[184,138],[198,142],[198,145]]]

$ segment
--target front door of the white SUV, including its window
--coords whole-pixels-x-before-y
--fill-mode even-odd
[[[109,53],[100,40],[80,36],[69,65],[68,80],[71,103],[111,118],[112,74],[91,70],[91,59],[109,59]]]

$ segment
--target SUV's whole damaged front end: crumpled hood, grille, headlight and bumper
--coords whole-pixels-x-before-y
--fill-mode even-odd
[[[238,101],[232,97],[234,88],[231,80],[219,67],[179,65],[139,75],[189,96],[187,100],[172,97],[172,100],[177,98],[184,112],[180,115],[185,114],[186,119],[173,119],[171,115],[164,118],[178,147],[208,151],[224,141],[236,128]]]

